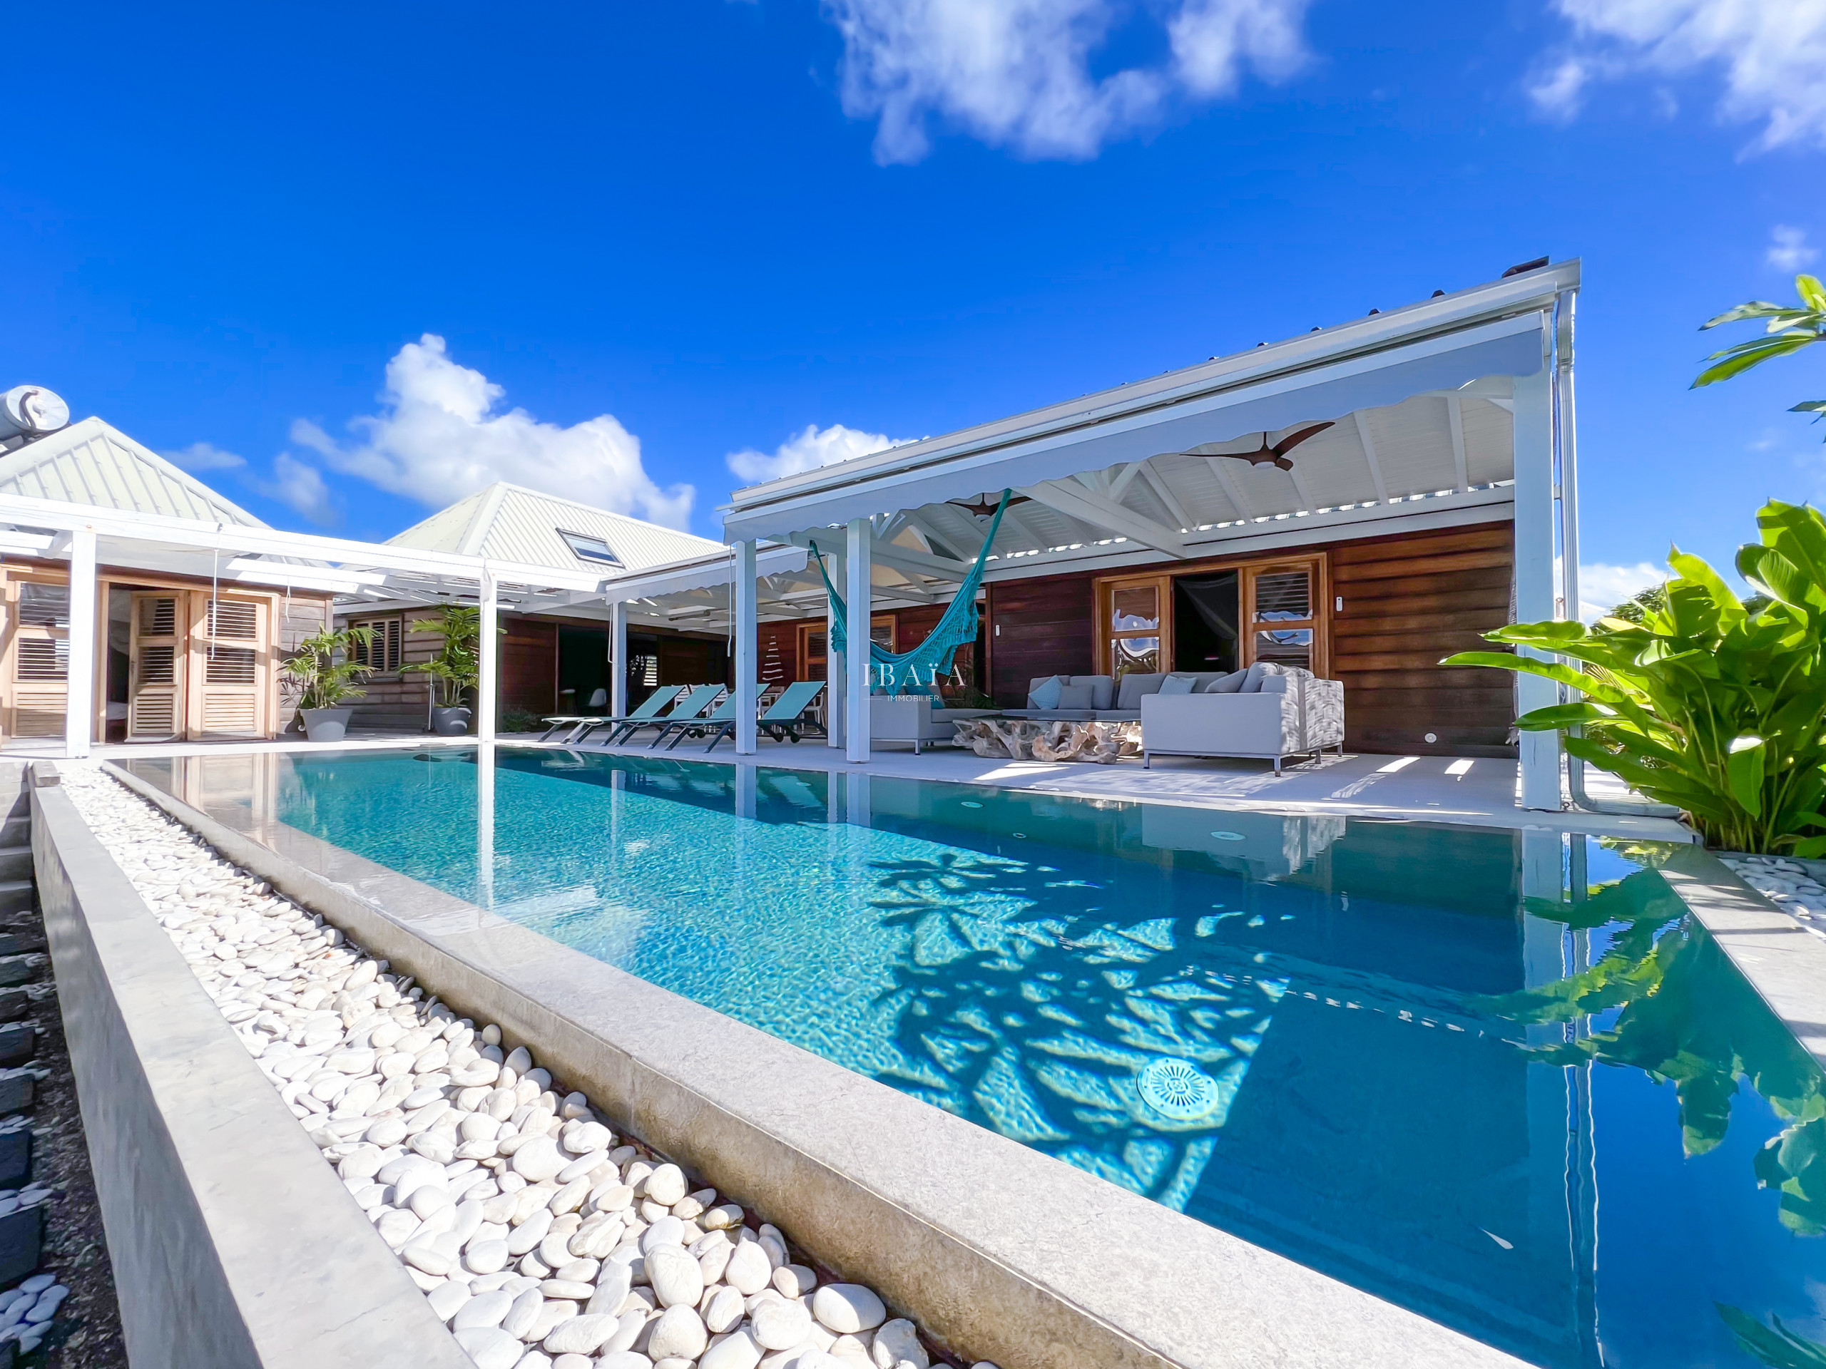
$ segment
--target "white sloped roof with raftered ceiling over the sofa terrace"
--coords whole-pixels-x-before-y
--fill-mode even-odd
[[[798,540],[895,515],[955,557],[981,533],[951,502],[1012,487],[1034,502],[1002,522],[999,557],[1112,535],[1183,555],[1211,540],[1196,535],[1262,518],[1470,493],[1512,478],[1512,381],[1539,372],[1578,279],[1576,261],[1545,266],[752,486],[723,506],[725,535]],[[1225,456],[1313,422],[1335,425],[1291,471]]]

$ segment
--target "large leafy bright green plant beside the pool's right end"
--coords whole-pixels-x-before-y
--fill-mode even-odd
[[[1665,606],[1640,622],[1514,622],[1485,633],[1567,661],[1461,652],[1441,664],[1519,670],[1585,697],[1516,719],[1567,732],[1567,752],[1682,809],[1715,847],[1826,854],[1826,520],[1771,500],[1737,570],[1669,553]]]

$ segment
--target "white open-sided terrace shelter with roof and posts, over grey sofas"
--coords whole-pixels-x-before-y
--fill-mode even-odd
[[[738,754],[756,748],[750,695],[763,608],[822,599],[816,568],[792,570],[785,551],[813,540],[838,551],[836,582],[849,604],[944,601],[982,549],[981,509],[1002,489],[1026,502],[1010,509],[988,549],[990,580],[1508,515],[1517,617],[1563,617],[1578,602],[1578,261],[1539,266],[736,491],[723,506],[734,584],[721,602],[705,586],[668,591],[648,580],[646,611],[670,615],[698,593],[701,622],[732,615]],[[1293,460],[1271,460],[1276,444],[1315,423],[1329,425],[1300,442]],[[628,586],[610,584],[608,597]],[[842,672],[831,663],[851,761],[869,754],[867,641],[851,632]],[[1517,681],[1523,710],[1554,694],[1550,681]],[[1558,737],[1525,734],[1521,774],[1525,807],[1558,809]]]

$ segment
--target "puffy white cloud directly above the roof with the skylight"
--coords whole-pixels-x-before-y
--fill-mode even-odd
[[[661,489],[641,465],[641,440],[614,416],[559,427],[524,409],[497,413],[502,394],[480,371],[451,361],[444,340],[427,332],[387,361],[382,411],[349,422],[354,442],[340,444],[303,418],[292,423],[292,442],[334,471],[429,507],[509,480],[666,528],[688,524],[696,491]]]

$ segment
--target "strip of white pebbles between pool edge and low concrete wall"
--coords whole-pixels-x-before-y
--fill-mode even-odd
[[[617,1144],[524,1046],[502,1053],[498,1026],[456,1019],[100,770],[62,770],[478,1369],[928,1369],[911,1322]]]

